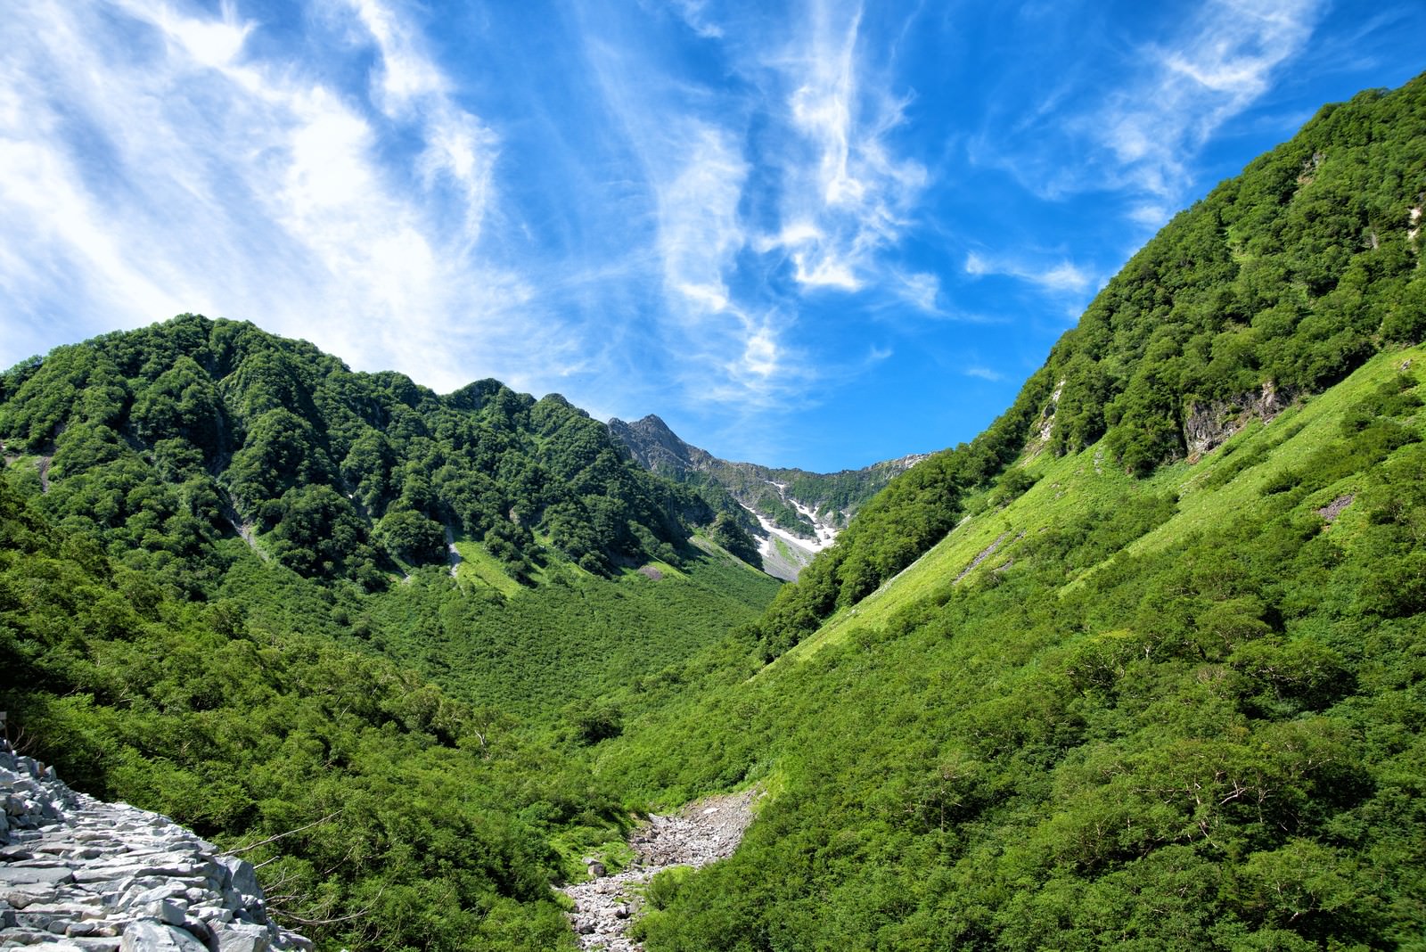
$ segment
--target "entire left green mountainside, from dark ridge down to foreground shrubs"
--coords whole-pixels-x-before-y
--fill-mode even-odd
[[[558,396],[248,324],[13,368],[0,439],[11,733],[225,845],[282,834],[252,858],[331,948],[573,948],[549,884],[629,822],[588,745],[777,587]]]

